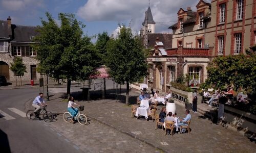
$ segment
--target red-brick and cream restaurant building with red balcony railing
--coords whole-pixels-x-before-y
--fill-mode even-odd
[[[171,45],[156,43],[148,58],[149,87],[168,92],[169,82],[185,74],[191,78],[189,85],[195,81],[199,85],[207,79],[206,67],[212,58],[245,53],[255,44],[256,0],[200,0],[196,8],[178,10],[177,23],[169,27]]]

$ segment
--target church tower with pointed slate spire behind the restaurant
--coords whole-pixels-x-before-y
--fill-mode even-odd
[[[147,27],[145,27],[146,22],[147,22]],[[156,22],[153,19],[151,9],[150,9],[149,5],[148,5],[146,15],[145,15],[145,19],[144,19],[144,22],[142,23],[142,25],[143,25],[143,35],[146,34],[146,29],[147,29],[147,34],[154,34],[155,33]]]

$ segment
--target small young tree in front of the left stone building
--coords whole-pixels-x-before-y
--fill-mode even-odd
[[[22,76],[24,76],[24,73],[27,72],[26,71],[26,65],[23,63],[22,58],[15,58],[14,63],[11,63],[11,71],[13,71],[13,73],[16,76],[20,77],[20,85],[22,85]],[[16,79],[16,85],[17,85],[17,79]]]

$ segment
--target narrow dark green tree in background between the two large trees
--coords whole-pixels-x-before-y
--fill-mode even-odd
[[[110,40],[110,37],[108,36],[108,32],[103,32],[102,34],[99,33],[97,37],[98,39],[95,43],[95,47],[101,58],[101,64],[103,64],[103,59],[106,56],[106,43]]]

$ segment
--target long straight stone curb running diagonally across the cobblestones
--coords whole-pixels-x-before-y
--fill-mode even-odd
[[[152,147],[155,147],[155,148],[157,148],[157,149],[160,149],[160,150],[162,150],[162,151],[164,151],[164,152],[168,152],[167,150],[165,150],[165,149],[163,149],[163,148],[160,148],[159,146],[157,146],[157,145],[155,145],[155,144],[152,144],[151,142],[148,142],[147,140],[144,140],[144,139],[142,139],[142,138],[139,138],[139,137],[137,137],[137,136],[134,136],[133,134],[131,134],[131,133],[129,133],[129,132],[126,132],[126,131],[123,131],[123,130],[121,130],[121,129],[118,129],[117,127],[112,126],[112,125],[109,124],[109,123],[106,123],[106,122],[104,122],[104,121],[98,120],[98,119],[96,119],[96,118],[94,118],[94,117],[92,117],[92,116],[90,116],[90,115],[86,115],[86,116],[88,116],[88,117],[90,117],[90,118],[92,118],[92,119],[98,121],[99,123],[102,123],[102,124],[104,124],[104,125],[107,125],[107,126],[111,127],[112,129],[115,129],[115,130],[117,130],[117,131],[119,131],[119,132],[121,132],[121,133],[123,133],[123,134],[125,134],[125,135],[127,135],[127,136],[130,136],[130,137],[132,137],[132,138],[134,138],[134,139],[137,139],[137,140],[139,140],[139,141],[141,141],[141,142],[143,142],[143,143],[146,143],[146,144],[148,144],[148,145],[151,145]]]

